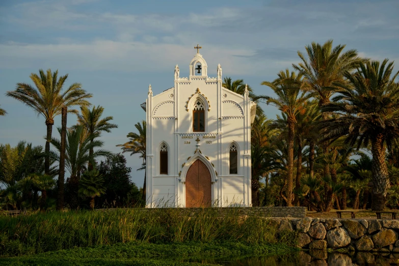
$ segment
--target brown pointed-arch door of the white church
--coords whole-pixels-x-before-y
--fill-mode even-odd
[[[208,168],[199,159],[190,166],[185,176],[185,206],[210,207],[211,184]]]

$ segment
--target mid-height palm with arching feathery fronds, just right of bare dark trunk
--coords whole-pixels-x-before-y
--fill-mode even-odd
[[[61,128],[57,128],[61,135]],[[78,204],[77,191],[79,185],[78,175],[84,169],[85,164],[94,161],[99,156],[112,156],[108,150],[98,149],[90,156],[90,148],[100,148],[104,145],[102,141],[91,141],[91,137],[82,137],[84,128],[82,125],[76,126],[66,132],[65,143],[65,166],[68,169],[70,177],[70,185],[72,193],[70,195],[71,207],[76,208]],[[61,142],[59,139],[52,138],[51,144],[61,152]],[[60,160],[60,154],[51,152],[52,156]]]

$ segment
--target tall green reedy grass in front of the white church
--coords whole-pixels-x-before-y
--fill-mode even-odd
[[[0,217],[0,256],[36,254],[73,247],[125,243],[222,242],[276,243],[276,225],[261,217],[244,217],[231,208],[191,216],[179,208],[49,212]]]

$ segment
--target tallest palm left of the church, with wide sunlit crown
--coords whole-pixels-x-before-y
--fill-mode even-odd
[[[88,106],[90,103],[87,101],[87,98],[91,98],[92,94],[82,89],[80,83],[73,83],[63,92],[62,87],[68,74],[58,78],[58,70],[51,73],[51,69],[48,69],[45,73],[40,69],[39,74],[40,76],[35,73],[31,73],[30,75],[36,88],[26,83],[17,83],[15,91],[8,91],[6,95],[25,103],[33,108],[38,115],[40,114],[45,118],[47,126],[45,152],[49,154],[52,125],[54,125],[54,118],[61,114],[61,108],[63,106],[69,108],[74,105]],[[74,109],[69,109],[68,112],[78,113]],[[44,166],[45,173],[49,174],[49,155],[45,158]]]

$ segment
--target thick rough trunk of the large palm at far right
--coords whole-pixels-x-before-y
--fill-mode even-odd
[[[388,168],[385,164],[385,148],[382,134],[379,134],[371,142],[371,153],[373,153],[371,164],[371,172],[373,173],[373,201],[371,202],[371,209],[381,211],[384,210],[389,188]]]

